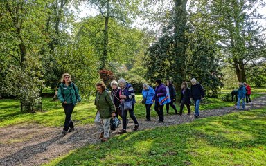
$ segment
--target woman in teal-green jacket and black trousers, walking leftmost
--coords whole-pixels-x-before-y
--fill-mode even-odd
[[[66,115],[64,119],[64,129],[62,131],[63,134],[66,134],[67,131],[71,132],[75,129],[71,120],[71,115],[75,105],[77,102],[80,102],[81,99],[77,86],[71,82],[71,75],[69,73],[64,73],[62,75],[61,82],[62,83],[58,87],[57,98],[62,103],[64,114]]]

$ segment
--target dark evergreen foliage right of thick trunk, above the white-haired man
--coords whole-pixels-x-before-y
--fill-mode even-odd
[[[192,36],[189,40],[186,61],[187,80],[195,77],[204,86],[207,96],[217,98],[223,84],[215,43],[204,38],[200,33],[190,35]]]

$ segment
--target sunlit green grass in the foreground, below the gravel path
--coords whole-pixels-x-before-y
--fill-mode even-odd
[[[199,118],[87,145],[47,165],[265,165],[266,109]]]

